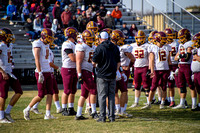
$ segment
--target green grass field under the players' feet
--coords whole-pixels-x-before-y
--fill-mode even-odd
[[[60,91],[60,96],[62,94]],[[10,100],[13,92],[9,92],[6,106]],[[28,105],[30,100],[37,95],[37,91],[24,91],[23,96],[11,111],[12,118],[15,123],[0,124],[0,133],[14,132],[200,132],[200,112],[192,112],[190,108],[172,110],[160,110],[158,105],[153,105],[150,110],[141,110],[143,103],[146,102],[144,93],[140,98],[140,107],[135,109],[127,109],[128,113],[133,115],[132,118],[116,119],[113,123],[98,123],[93,119],[85,121],[76,121],[74,116],[61,116],[56,114],[54,103],[52,104],[51,113],[58,117],[56,120],[44,120],[45,113],[45,99],[41,101],[38,108],[42,115],[30,113],[30,121],[23,118],[23,109]],[[77,92],[75,99],[75,110],[77,109],[77,101],[80,96],[80,90]],[[157,96],[156,96],[157,97]],[[129,89],[129,103],[128,107],[134,101],[134,92]],[[188,89],[187,95],[188,104],[191,105],[190,91]],[[175,102],[179,103],[179,96],[176,92]]]

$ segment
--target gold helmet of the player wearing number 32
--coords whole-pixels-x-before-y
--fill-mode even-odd
[[[136,34],[135,34],[135,41],[137,43],[138,46],[144,44],[146,42],[146,35],[144,33],[144,31],[139,30]]]

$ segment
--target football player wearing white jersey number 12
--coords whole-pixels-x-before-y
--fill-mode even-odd
[[[151,90],[149,93],[149,101],[146,106],[142,109],[151,108],[151,101],[155,94],[156,88],[160,86],[162,88],[162,100],[160,104],[160,109],[164,109],[165,98],[166,98],[166,89],[167,89],[167,78],[169,76],[169,65],[171,65],[170,60],[170,50],[168,46],[166,46],[167,37],[164,32],[158,32],[154,35],[155,43],[154,47],[150,49],[150,61],[149,66],[151,72],[149,76],[153,77]]]

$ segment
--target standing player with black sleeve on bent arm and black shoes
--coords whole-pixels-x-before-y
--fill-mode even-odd
[[[74,27],[68,27],[65,29],[64,34],[68,39],[62,45],[61,75],[64,86],[64,92],[62,94],[62,115],[68,116],[76,115],[74,111],[74,99],[77,91],[78,78],[76,73],[75,44],[77,42],[78,31]]]

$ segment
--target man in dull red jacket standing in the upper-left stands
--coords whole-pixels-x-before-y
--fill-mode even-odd
[[[62,19],[64,28],[68,27],[68,24],[71,18],[72,18],[72,13],[69,11],[69,7],[66,5],[65,11],[63,11],[63,13],[61,14],[61,19]]]

